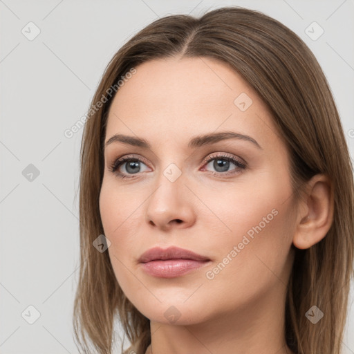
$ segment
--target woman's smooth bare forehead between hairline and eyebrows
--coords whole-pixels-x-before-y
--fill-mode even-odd
[[[242,101],[248,109],[240,109]],[[264,124],[276,133],[265,104],[227,64],[207,57],[154,59],[137,66],[116,93],[106,140],[119,132],[183,141],[217,130],[262,140]]]

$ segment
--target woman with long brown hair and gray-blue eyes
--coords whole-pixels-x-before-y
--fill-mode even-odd
[[[117,317],[124,353],[340,353],[353,171],[294,32],[237,7],[154,21],[106,68],[81,153],[84,353],[111,353]]]

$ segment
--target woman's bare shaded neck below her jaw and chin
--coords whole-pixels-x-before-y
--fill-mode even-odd
[[[198,324],[150,322],[147,354],[293,354],[285,341],[286,289],[273,289],[245,306],[218,313]]]

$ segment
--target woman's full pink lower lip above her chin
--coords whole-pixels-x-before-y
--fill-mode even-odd
[[[153,277],[175,278],[201,268],[209,261],[194,261],[192,259],[167,259],[141,263],[142,269]]]

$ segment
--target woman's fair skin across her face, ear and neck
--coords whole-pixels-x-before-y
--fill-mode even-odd
[[[226,64],[205,57],[169,58],[136,69],[114,97],[105,142],[121,133],[145,138],[151,150],[122,142],[106,146],[100,213],[115,277],[151,321],[147,353],[292,353],[283,321],[294,245],[308,248],[328,231],[333,212],[328,180],[315,176],[304,201],[295,205],[288,151],[270,111]],[[245,111],[234,104],[241,93],[252,99]],[[237,139],[187,146],[194,136],[221,131],[250,136],[261,149]],[[223,172],[213,165],[220,158],[203,162],[213,153],[247,166],[230,162]],[[109,170],[118,157],[131,154],[144,159],[136,174],[127,171],[127,163],[120,166],[132,178]],[[171,163],[181,172],[174,182],[164,175]],[[272,210],[277,215],[208,279],[206,272]],[[143,252],[170,245],[211,261],[172,279],[142,270]],[[176,322],[164,315],[167,309],[179,316]]]

